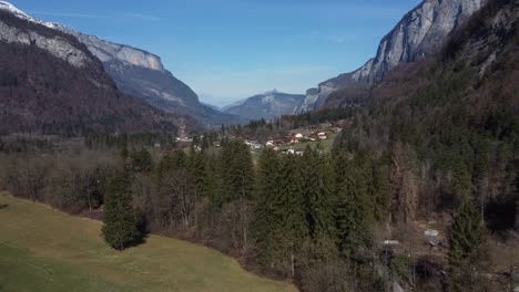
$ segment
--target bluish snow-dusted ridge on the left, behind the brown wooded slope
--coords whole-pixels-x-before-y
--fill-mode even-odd
[[[237,116],[221,113],[202,104],[196,93],[165,70],[160,56],[155,54],[83,34],[55,22],[37,20],[6,1],[0,1],[0,10],[26,21],[74,35],[101,60],[104,70],[112,76],[119,90],[142,98],[159,109],[191,115],[206,126],[243,122]]]

